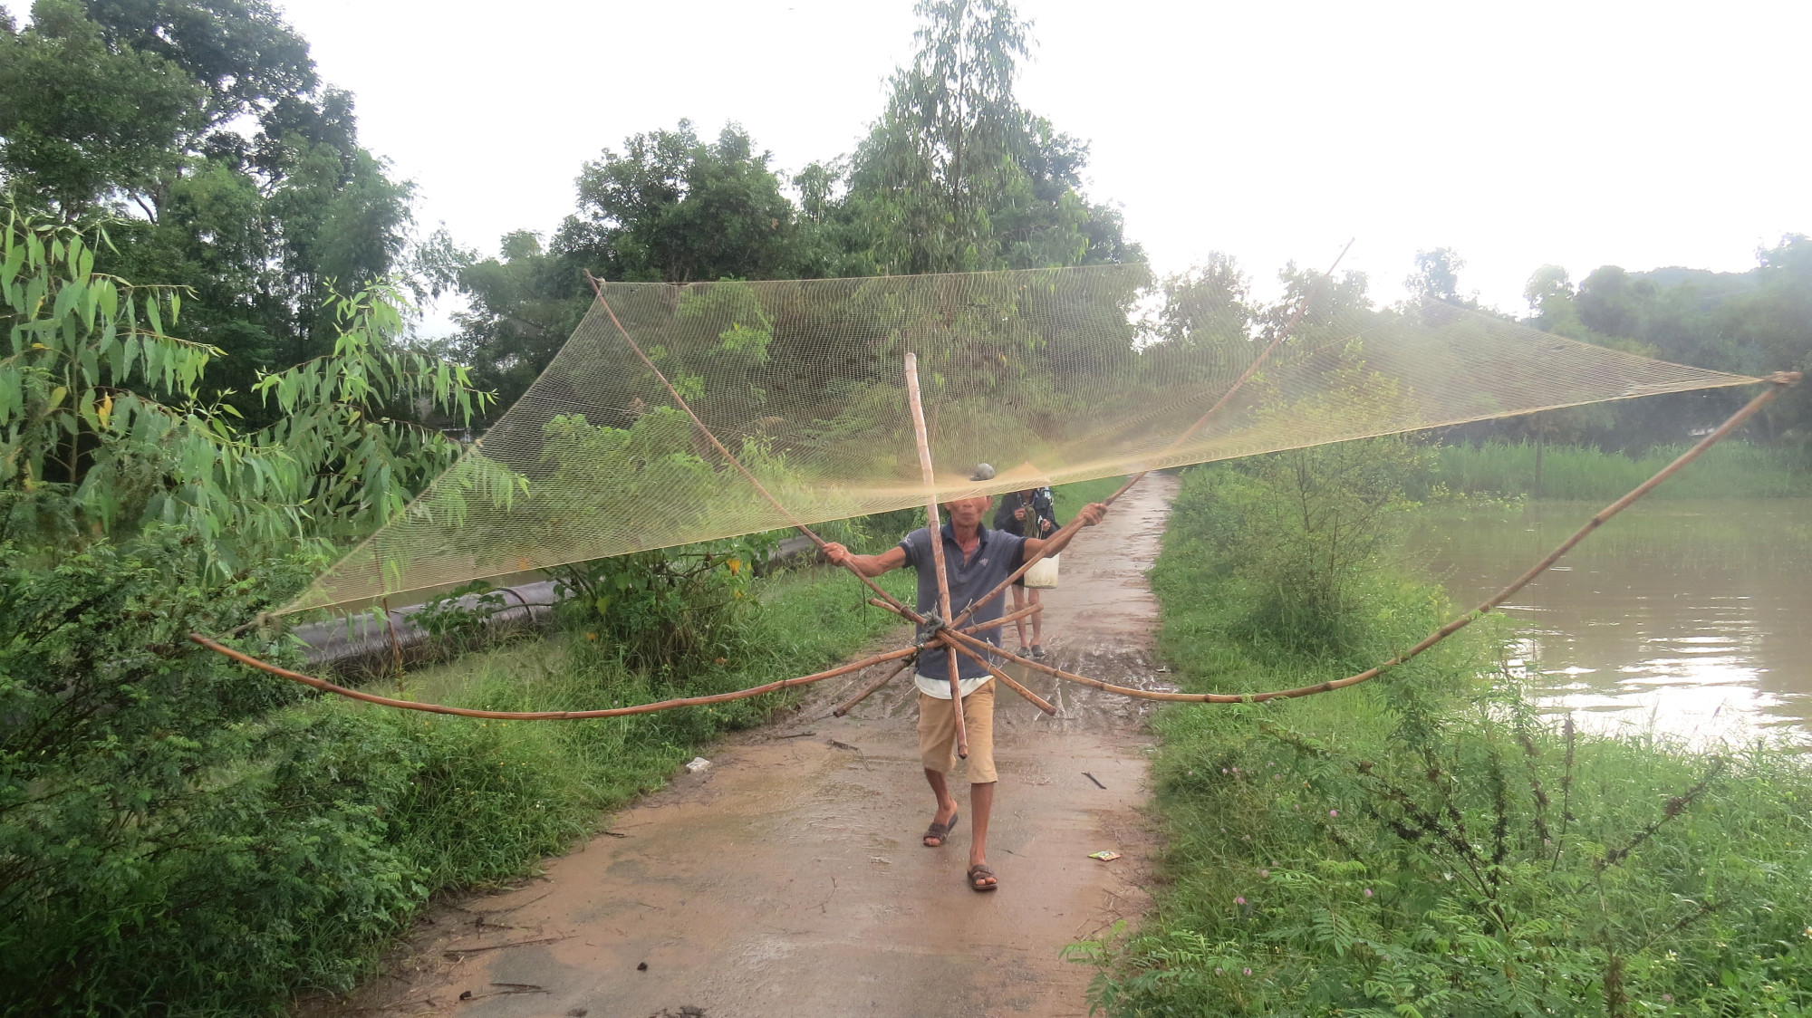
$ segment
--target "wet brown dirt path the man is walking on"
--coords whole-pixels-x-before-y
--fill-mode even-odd
[[[1143,571],[1174,489],[1145,478],[1064,554],[1064,585],[1046,592],[1053,661],[1154,685]],[[520,889],[435,909],[339,1013],[1087,1014],[1093,971],[1058,953],[1145,906],[1143,703],[1022,681],[1060,715],[1000,692],[993,895],[964,886],[968,817],[948,848],[919,844],[933,802],[911,683],[824,717],[852,681],[714,746],[708,770],[618,815],[623,837],[600,835]],[[968,813],[968,786],[951,784]],[[1104,848],[1125,859],[1087,859]]]

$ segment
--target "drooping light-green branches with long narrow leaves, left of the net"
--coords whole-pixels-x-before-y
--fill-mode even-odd
[[[460,444],[420,418],[464,424],[489,404],[464,368],[404,346],[406,304],[391,286],[335,295],[333,353],[259,377],[254,391],[284,413],[263,429],[208,402],[226,395],[207,386],[223,353],[167,331],[183,292],[96,274],[83,232],[13,212],[0,293],[0,498],[51,484],[71,509],[38,540],[163,523],[223,571],[268,549],[328,554],[458,456]]]

